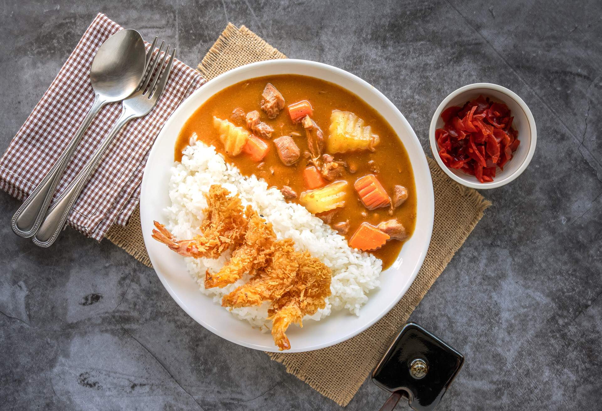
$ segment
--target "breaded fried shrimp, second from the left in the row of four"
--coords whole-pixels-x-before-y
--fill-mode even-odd
[[[240,279],[245,273],[263,267],[272,252],[276,234],[272,223],[266,223],[250,206],[246,209],[247,227],[240,247],[217,273],[205,274],[205,288],[225,287]]]

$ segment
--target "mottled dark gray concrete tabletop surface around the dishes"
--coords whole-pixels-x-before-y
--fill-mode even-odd
[[[196,64],[228,21],[290,57],[374,84],[428,151],[436,106],[471,82],[518,93],[538,148],[412,314],[467,357],[441,410],[596,409],[602,401],[602,3],[4,0],[0,147],[98,11]],[[17,238],[0,194],[0,408],[340,409],[264,353],[189,318],[154,271],[67,230]],[[349,410],[376,410],[369,380]],[[400,409],[404,409],[400,406]]]

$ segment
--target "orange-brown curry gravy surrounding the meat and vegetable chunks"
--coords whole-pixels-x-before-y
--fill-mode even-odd
[[[272,83],[284,96],[285,108],[275,119],[268,119],[264,111],[259,107],[261,104],[261,93],[267,82]],[[349,220],[349,231],[345,235],[347,240],[351,238],[359,225],[367,221],[377,225],[381,221],[397,218],[405,226],[406,232],[411,236],[415,227],[416,216],[416,188],[414,174],[403,144],[397,137],[393,128],[373,108],[367,105],[358,96],[339,87],[338,85],[320,79],[299,75],[276,75],[254,78],[234,84],[215,94],[199,107],[187,120],[180,131],[175,146],[175,160],[180,161],[182,150],[188,146],[190,136],[196,132],[203,143],[213,145],[217,152],[222,153],[226,161],[236,165],[243,175],[256,175],[264,179],[268,185],[282,188],[283,185],[293,188],[297,194],[306,191],[303,182],[303,170],[307,167],[306,159],[301,156],[299,161],[293,165],[284,165],[278,157],[276,147],[272,143],[274,138],[282,135],[291,135],[299,146],[301,152],[308,149],[305,130],[299,123],[293,124],[288,116],[287,105],[308,100],[313,107],[312,119],[322,129],[324,140],[327,140],[328,128],[330,126],[330,114],[332,110],[351,111],[355,113],[367,125],[372,127],[372,132],[379,135],[380,143],[373,152],[369,150],[330,153],[335,160],[343,160],[348,164],[355,164],[357,171],[349,173],[347,170],[341,178],[349,182],[345,206],[337,208],[336,214],[330,224]],[[213,125],[213,116],[219,119],[229,119],[232,111],[240,107],[245,113],[257,110],[261,114],[261,121],[268,123],[274,129],[272,139],[265,140],[270,146],[270,151],[261,162],[255,162],[241,153],[236,157],[226,155],[224,147],[219,139],[219,132]],[[293,134],[291,134],[293,133]],[[325,149],[327,152],[327,149]],[[368,164],[368,162],[371,162]],[[360,177],[373,174],[377,177],[389,195],[393,192],[394,185],[403,185],[408,189],[408,200],[389,215],[389,208],[378,208],[367,210],[359,200],[359,196],[353,188],[353,183]],[[298,202],[297,199],[291,201]],[[362,217],[362,212],[367,213]],[[408,237],[409,238],[409,237]],[[389,239],[384,246],[372,253],[382,259],[383,269],[388,268],[399,254],[402,241]]]

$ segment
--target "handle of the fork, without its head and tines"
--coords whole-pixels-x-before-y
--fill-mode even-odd
[[[65,222],[67,221],[67,216],[73,208],[75,200],[77,200],[79,193],[81,193],[81,191],[84,189],[85,183],[96,169],[96,165],[98,165],[98,162],[104,155],[105,150],[107,150],[108,146],[111,144],[116,135],[119,134],[119,131],[123,128],[123,126],[125,126],[129,120],[132,120],[135,117],[139,116],[128,112],[128,110],[125,110],[124,108],[123,113],[119,119],[117,119],[117,122],[109,132],[109,135],[102,141],[101,146],[98,148],[98,150],[96,150],[96,152],[92,155],[92,158],[88,160],[81,172],[79,172],[76,178],[61,194],[61,196],[58,197],[52,208],[46,214],[44,221],[42,221],[39,230],[33,238],[33,242],[36,244],[36,246],[49,247],[52,245],[52,243],[54,243],[55,239],[57,239],[58,235],[60,234],[61,229],[63,229]]]

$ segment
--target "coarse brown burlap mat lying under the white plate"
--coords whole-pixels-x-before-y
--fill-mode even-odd
[[[243,64],[275,58],[286,56],[245,26],[237,28],[230,23],[205,55],[198,70],[207,79],[212,79]],[[424,264],[402,300],[382,320],[341,344],[308,353],[268,353],[270,358],[283,363],[287,372],[341,406],[353,398],[393,336],[464,244],[483,211],[491,205],[477,191],[453,182],[430,158],[429,167],[435,190],[433,236]],[[107,238],[150,267],[138,210],[127,227],[114,226]]]

